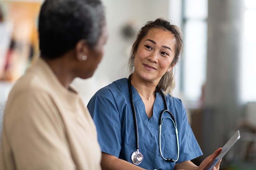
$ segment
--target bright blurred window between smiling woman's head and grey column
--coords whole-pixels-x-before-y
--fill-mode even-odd
[[[184,61],[181,90],[198,101],[206,80],[208,0],[183,0]]]

